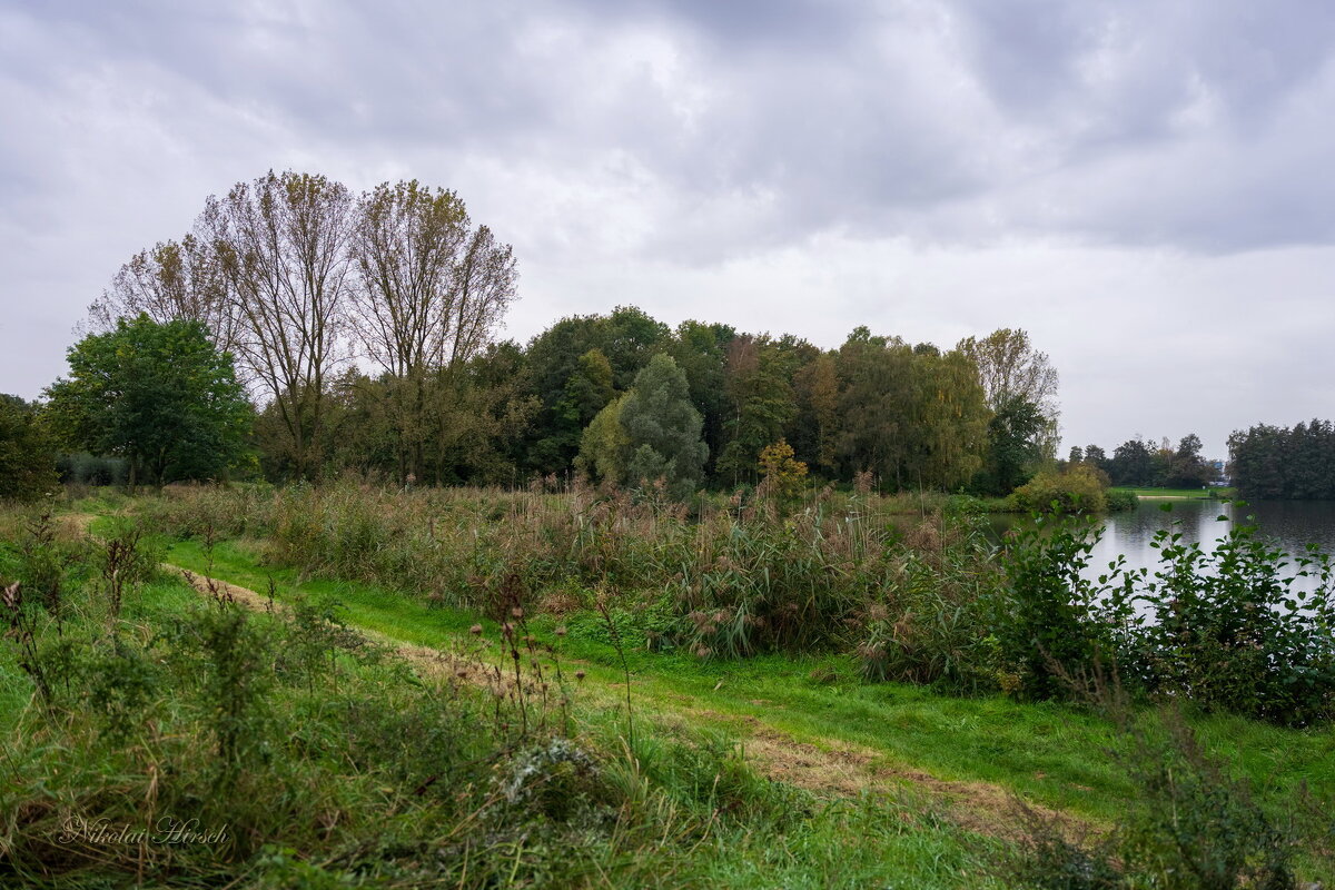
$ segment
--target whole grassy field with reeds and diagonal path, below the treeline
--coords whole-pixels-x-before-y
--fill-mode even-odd
[[[59,571],[61,606],[0,650],[0,875],[1077,886],[1053,875],[1149,849],[1235,882],[1124,886],[1335,878],[1328,725],[1023,694],[976,642],[991,544],[932,506],[909,531],[874,498],[364,486],[11,514],[0,575]],[[1164,794],[1176,854],[1141,837]],[[162,818],[227,837],[69,830]]]

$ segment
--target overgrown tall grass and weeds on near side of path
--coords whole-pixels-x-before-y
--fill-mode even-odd
[[[530,673],[518,606],[474,643],[517,652],[498,686],[483,663],[405,662],[327,603],[250,611],[131,572],[113,602],[100,570],[139,540],[40,538],[77,546],[59,627],[5,586],[49,682],[44,702],[0,699],[0,885],[960,886],[975,867],[955,829],[825,807],[726,739],[573,723],[546,695],[559,674]],[[16,543],[0,540],[5,579],[27,571]],[[0,644],[0,675],[33,697],[27,660]]]

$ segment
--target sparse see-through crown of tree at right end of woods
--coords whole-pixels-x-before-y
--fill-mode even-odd
[[[1029,343],[1025,331],[1001,328],[981,340],[965,338],[955,347],[973,359],[979,368],[988,407],[993,412],[1011,399],[1024,399],[1039,408],[1045,422],[1041,439],[1044,458],[1056,456],[1057,447],[1057,371],[1047,352]]]

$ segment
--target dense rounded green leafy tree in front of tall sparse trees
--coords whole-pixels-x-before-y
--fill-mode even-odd
[[[68,358],[47,391],[52,426],[73,448],[128,459],[131,486],[216,478],[243,456],[252,410],[200,322],[121,319]]]

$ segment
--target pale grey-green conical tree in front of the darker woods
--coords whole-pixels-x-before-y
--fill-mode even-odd
[[[690,403],[686,375],[672,356],[653,356],[635,376],[619,423],[627,439],[629,484],[665,479],[678,500],[700,486],[709,446],[701,439],[704,423]]]

